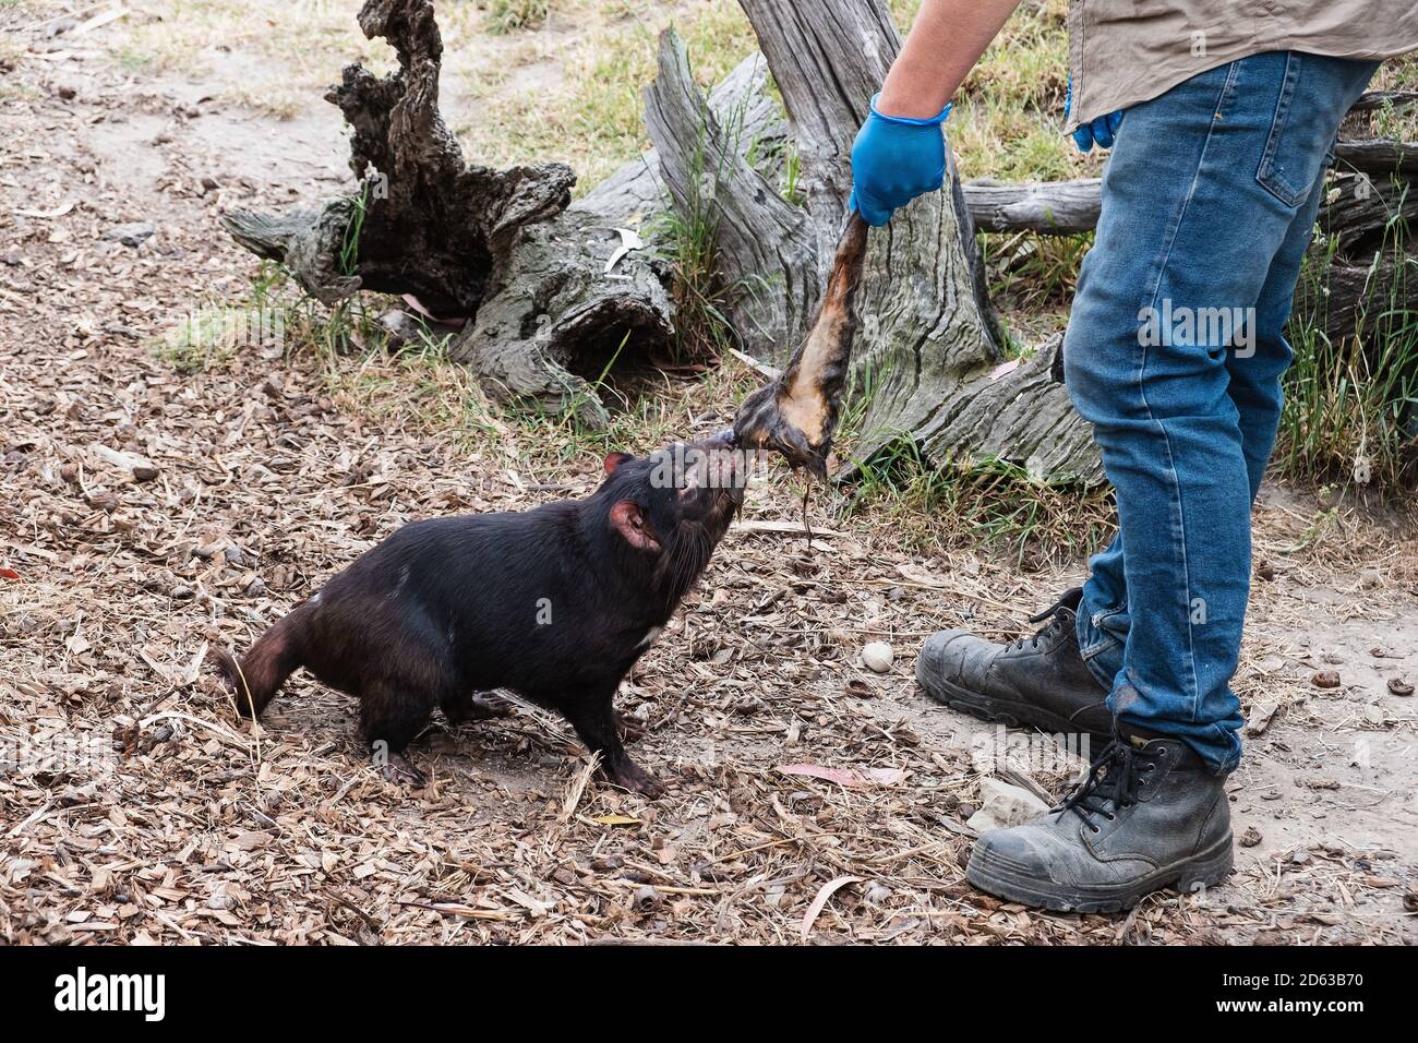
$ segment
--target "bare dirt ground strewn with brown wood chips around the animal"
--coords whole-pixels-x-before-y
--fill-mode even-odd
[[[1017,636],[1082,563],[912,552],[828,494],[808,546],[780,481],[750,491],[623,687],[649,728],[637,758],[671,785],[659,802],[588,779],[542,712],[435,724],[414,793],[366,765],[353,704],[308,678],[258,731],[237,724],[199,668],[210,644],[244,647],[404,521],[577,495],[600,460],[492,409],[472,436],[428,423],[414,406],[447,372],[414,386],[372,358],[259,348],[176,370],[164,333],[251,288],[223,209],[345,184],[333,111],[278,121],[33,21],[0,9],[31,48],[0,58],[0,938],[1418,941],[1418,701],[1401,694],[1418,548],[1303,491],[1268,490],[1256,514],[1238,871],[1129,915],[1041,915],[964,884],[998,736],[913,683],[927,633]],[[132,221],[155,233],[104,240]],[[733,404],[668,394],[683,434]],[[885,674],[861,664],[871,640],[895,649]],[[84,755],[50,762],[61,746]],[[1078,768],[1046,744],[1014,756],[1055,796]]]

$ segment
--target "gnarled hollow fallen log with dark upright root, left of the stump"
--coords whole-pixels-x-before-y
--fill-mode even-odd
[[[655,356],[675,338],[671,270],[647,228],[665,206],[658,156],[624,165],[576,203],[562,163],[465,166],[438,111],[432,3],[367,0],[359,23],[400,64],[384,78],[350,65],[326,94],[354,129],[359,192],[285,214],[233,210],[224,226],[326,304],[360,289],[410,294],[434,316],[461,319],[450,355],[495,397],[604,421],[593,380],[623,349]],[[784,123],[766,79],[761,57],[740,62],[709,111],[771,152]]]

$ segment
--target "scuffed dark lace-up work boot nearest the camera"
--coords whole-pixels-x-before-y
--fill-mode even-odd
[[[981,836],[966,880],[1027,905],[1117,912],[1163,887],[1217,884],[1231,857],[1225,778],[1181,739],[1132,729],[1052,812]]]

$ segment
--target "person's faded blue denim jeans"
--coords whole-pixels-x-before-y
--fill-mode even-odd
[[[1218,773],[1241,759],[1231,677],[1283,328],[1340,119],[1375,68],[1256,54],[1129,109],[1069,316],[1065,379],[1119,517],[1079,647],[1115,715]]]

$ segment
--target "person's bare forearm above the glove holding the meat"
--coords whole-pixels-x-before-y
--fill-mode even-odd
[[[905,47],[886,74],[878,111],[929,119],[1020,6],[1020,0],[925,0]]]

